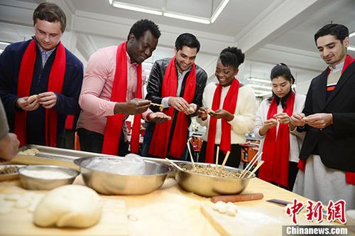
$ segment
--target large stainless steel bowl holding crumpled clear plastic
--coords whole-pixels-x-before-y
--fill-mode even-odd
[[[84,183],[98,193],[105,195],[141,195],[151,193],[160,188],[168,173],[173,171],[171,166],[158,161],[146,161],[144,173],[137,175],[110,173],[87,168],[89,163],[94,160],[102,160],[109,163],[110,160],[114,161],[116,159],[122,158],[92,156],[76,159],[74,163],[80,166]]]

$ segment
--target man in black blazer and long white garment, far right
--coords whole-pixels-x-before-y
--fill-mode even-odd
[[[329,23],[315,34],[328,67],[315,77],[302,114],[293,124],[306,132],[293,191],[324,205],[345,200],[355,208],[355,60],[347,54],[349,30]]]

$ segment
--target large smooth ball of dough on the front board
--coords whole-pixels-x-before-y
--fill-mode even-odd
[[[102,215],[102,200],[91,188],[61,186],[48,192],[33,213],[33,222],[40,227],[90,227]]]

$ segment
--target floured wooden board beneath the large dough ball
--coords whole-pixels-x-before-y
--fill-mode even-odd
[[[0,182],[0,193],[45,193],[45,191],[26,191],[18,186],[20,186],[18,181]],[[29,213],[26,208],[13,208],[10,213],[0,214],[0,235],[129,235],[124,200],[107,197],[102,199],[102,218],[92,227],[86,229],[37,227],[32,222],[32,213]]]

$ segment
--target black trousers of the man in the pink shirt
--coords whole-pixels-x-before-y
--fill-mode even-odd
[[[77,129],[77,135],[80,140],[81,151],[91,151],[97,154],[102,153],[102,144],[104,144],[104,135],[92,132],[87,129]],[[124,132],[121,131],[119,138],[119,154],[118,156],[126,156],[129,153],[129,142],[124,141]]]

